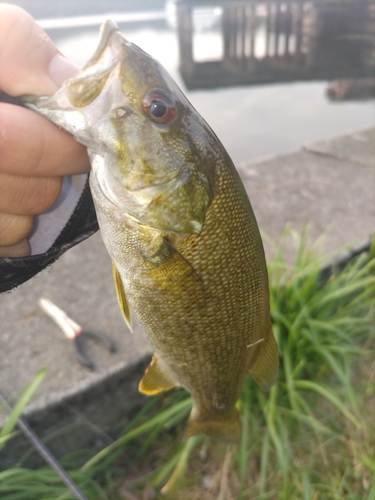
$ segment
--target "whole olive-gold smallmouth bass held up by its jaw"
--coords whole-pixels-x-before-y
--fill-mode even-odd
[[[164,68],[107,21],[93,57],[25,104],[87,146],[90,187],[125,321],[154,355],[144,394],[185,387],[185,437],[236,442],[247,371],[276,380],[259,229],[224,147]]]

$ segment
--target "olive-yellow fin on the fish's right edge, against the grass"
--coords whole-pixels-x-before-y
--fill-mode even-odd
[[[257,355],[249,372],[261,389],[267,391],[276,382],[279,372],[279,352],[271,322],[264,342],[257,346]]]

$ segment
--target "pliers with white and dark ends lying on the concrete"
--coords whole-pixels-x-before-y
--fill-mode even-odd
[[[116,346],[112,340],[98,332],[89,332],[84,330],[81,325],[76,323],[72,318],[66,314],[65,311],[57,307],[51,300],[40,298],[38,304],[43,309],[43,311],[53,319],[55,323],[59,325],[61,330],[64,332],[65,336],[72,341],[73,349],[78,362],[89,368],[90,370],[95,370],[94,363],[87,357],[83,349],[84,337],[92,337],[96,340],[102,342],[109,352],[116,352]]]

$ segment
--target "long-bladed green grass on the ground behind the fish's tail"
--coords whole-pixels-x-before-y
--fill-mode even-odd
[[[326,261],[303,236],[293,265],[282,249],[269,265],[280,375],[269,393],[248,377],[241,443],[182,443],[189,395],[152,398],[117,441],[71,465],[90,500],[375,500],[375,253],[322,282]],[[28,484],[39,492],[22,496]],[[0,473],[5,500],[73,498],[64,492],[47,468]]]

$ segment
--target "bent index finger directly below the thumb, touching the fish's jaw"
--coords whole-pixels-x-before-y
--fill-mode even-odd
[[[0,172],[53,176],[88,172],[87,151],[42,116],[0,104]]]

